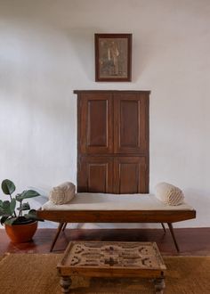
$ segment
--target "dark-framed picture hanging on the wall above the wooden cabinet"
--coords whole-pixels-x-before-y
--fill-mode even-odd
[[[132,70],[132,34],[95,34],[95,80],[129,82]]]

